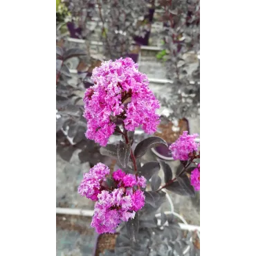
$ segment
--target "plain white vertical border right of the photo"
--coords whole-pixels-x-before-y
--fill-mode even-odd
[[[255,255],[253,31],[253,4],[205,1],[207,256]]]

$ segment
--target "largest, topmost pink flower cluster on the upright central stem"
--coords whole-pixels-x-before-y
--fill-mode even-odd
[[[113,116],[121,118],[129,131],[140,125],[147,134],[156,131],[159,102],[148,87],[147,75],[138,71],[138,64],[131,58],[102,63],[93,69],[91,80],[95,85],[84,95],[87,138],[107,145],[116,127],[111,121]]]

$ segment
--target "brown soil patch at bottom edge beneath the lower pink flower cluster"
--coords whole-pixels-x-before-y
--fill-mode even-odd
[[[98,237],[97,249],[95,256],[100,256],[104,250],[114,250],[118,234],[102,234]]]

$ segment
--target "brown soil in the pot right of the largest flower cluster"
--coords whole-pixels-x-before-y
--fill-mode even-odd
[[[156,132],[155,135],[163,138],[167,143],[174,143],[183,131],[188,131],[188,121],[185,119],[179,120],[179,125],[176,127],[171,121],[167,124],[160,124],[158,126],[161,132]],[[179,128],[179,131],[173,131]]]

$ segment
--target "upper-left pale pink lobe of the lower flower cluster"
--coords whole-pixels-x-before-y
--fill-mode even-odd
[[[77,189],[77,192],[81,196],[86,196],[87,198],[97,201],[98,194],[100,193],[100,183],[105,181],[105,176],[109,174],[109,167],[103,163],[98,163],[93,166],[89,173],[84,174],[84,178]]]

